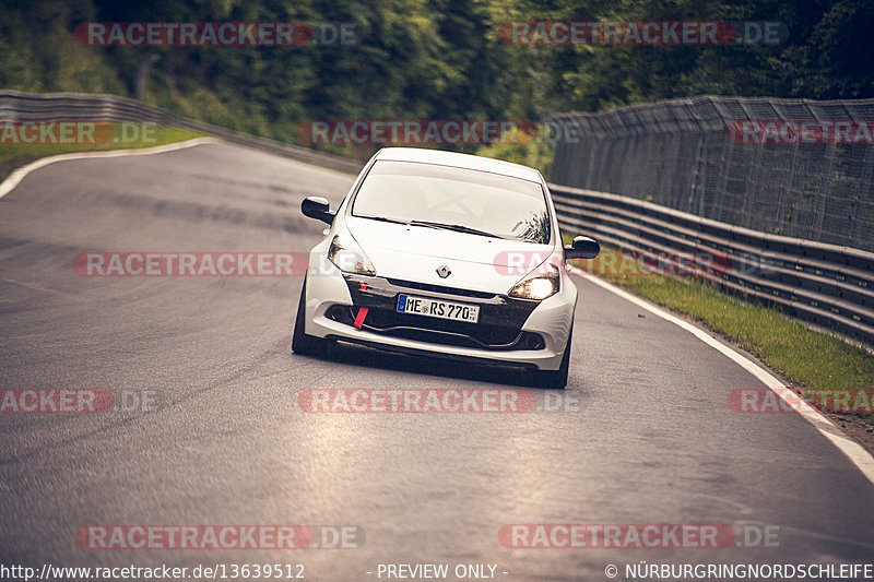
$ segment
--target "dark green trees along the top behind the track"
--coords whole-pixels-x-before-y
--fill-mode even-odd
[[[780,21],[775,46],[520,46],[509,21]],[[354,45],[86,47],[86,21],[354,23]],[[870,0],[7,0],[0,86],[132,96],[144,55],[158,60],[145,102],[240,131],[299,142],[306,120],[501,119],[700,94],[874,96]],[[376,146],[333,146],[366,157]],[[473,150],[466,147],[462,150]],[[548,144],[477,153],[548,174]]]

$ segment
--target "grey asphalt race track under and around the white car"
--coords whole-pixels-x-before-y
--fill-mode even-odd
[[[0,414],[0,563],[303,563],[326,581],[377,580],[380,562],[492,563],[501,580],[570,581],[640,560],[871,561],[874,487],[837,449],[795,414],[732,412],[732,390],[761,387],[753,376],[582,278],[568,388],[536,391],[560,411],[312,414],[297,404],[305,389],[525,388],[357,347],[296,356],[297,276],[72,269],[86,251],[305,251],[322,227],[300,200],[339,202],[352,180],[209,144],[52,164],[0,200],[0,388],[155,401],[145,412]],[[501,545],[503,525],[527,523],[777,534],[706,549]],[[83,549],[74,535],[87,524],[345,525],[364,543]]]

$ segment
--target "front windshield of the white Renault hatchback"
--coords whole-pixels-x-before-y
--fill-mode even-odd
[[[352,215],[538,244],[551,237],[540,183],[416,162],[377,161]]]

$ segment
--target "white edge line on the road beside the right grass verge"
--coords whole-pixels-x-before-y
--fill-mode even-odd
[[[798,405],[798,395],[792,392],[786,384],[783,384],[777,377],[770,373],[768,370],[763,368],[758,365],[758,363],[753,361],[745,355],[741,354],[740,352],[733,349],[732,347],[718,342],[714,340],[708,332],[693,325],[688,321],[680,319],[678,317],[669,313],[664,309],[657,307],[639,297],[635,297],[628,292],[625,292],[615,285],[607,283],[606,281],[602,281],[594,275],[590,275],[579,269],[574,268],[571,272],[575,275],[579,275],[580,277],[594,283],[603,287],[604,289],[618,295],[623,299],[635,304],[636,306],[640,307],[641,309],[646,309],[650,313],[659,316],[660,318],[670,321],[671,323],[678,325],[696,336],[701,342],[706,343],[713,349],[720,352],[725,357],[741,366],[743,369],[755,376],[763,384],[771,389],[787,405],[788,409],[794,409],[793,406]],[[728,404],[727,404],[728,405]],[[799,413],[796,413],[799,414]],[[846,454],[850,461],[859,467],[859,471],[867,477],[867,479],[874,484],[874,458],[871,456],[861,444],[851,440],[847,437],[847,435],[840,430],[835,424],[826,418],[822,413],[818,411],[816,412],[805,412],[802,415],[804,418],[810,420],[810,423],[816,427],[816,429],[831,443],[837,447],[840,452]]]

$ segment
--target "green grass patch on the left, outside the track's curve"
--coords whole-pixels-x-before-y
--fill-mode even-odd
[[[75,135],[76,127],[72,129],[71,136],[66,140],[61,139],[59,128],[52,128],[43,135],[39,134],[39,131],[25,132],[19,128],[4,131],[0,135],[0,181],[4,180],[16,168],[40,157],[73,152],[106,152],[109,150],[154,147],[205,136],[203,133],[186,129],[161,128],[143,123],[97,122],[95,126],[95,128],[86,128],[84,139],[79,139]],[[42,143],[24,142],[25,139],[33,138]],[[67,141],[67,143],[61,143],[61,141]]]

